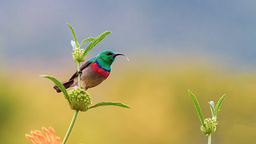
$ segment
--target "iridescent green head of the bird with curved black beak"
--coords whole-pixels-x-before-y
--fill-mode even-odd
[[[115,58],[117,55],[124,55],[124,54],[123,53],[115,53],[114,51],[111,51],[111,50],[106,50],[106,51],[100,52],[98,54],[98,56],[96,57],[96,59],[101,67],[103,67],[107,70],[110,70],[110,66],[115,61]]]

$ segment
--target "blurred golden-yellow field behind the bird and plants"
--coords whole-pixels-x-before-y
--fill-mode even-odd
[[[0,77],[1,143],[30,143],[25,133],[42,126],[52,126],[63,140],[74,111],[62,94],[55,93],[53,83],[38,75],[65,81],[74,69],[9,72],[1,70]],[[108,79],[88,92],[93,104],[119,101],[132,109],[106,106],[80,112],[68,143],[206,143],[188,90],[196,95],[205,118],[211,117],[207,102],[217,103],[227,94],[212,143],[255,143],[255,86],[255,73],[206,58],[118,59]]]

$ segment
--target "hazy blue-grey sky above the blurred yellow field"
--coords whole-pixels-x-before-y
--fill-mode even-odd
[[[70,23],[79,42],[113,31],[92,55],[203,51],[255,66],[255,15],[256,1],[0,1],[0,60],[70,57]]]

